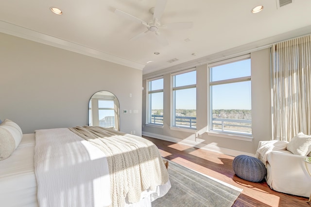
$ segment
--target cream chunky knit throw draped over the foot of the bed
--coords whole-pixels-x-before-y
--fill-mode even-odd
[[[107,156],[113,207],[124,200],[136,203],[144,190],[154,190],[169,180],[158,148],[145,138],[97,126],[69,128]]]

